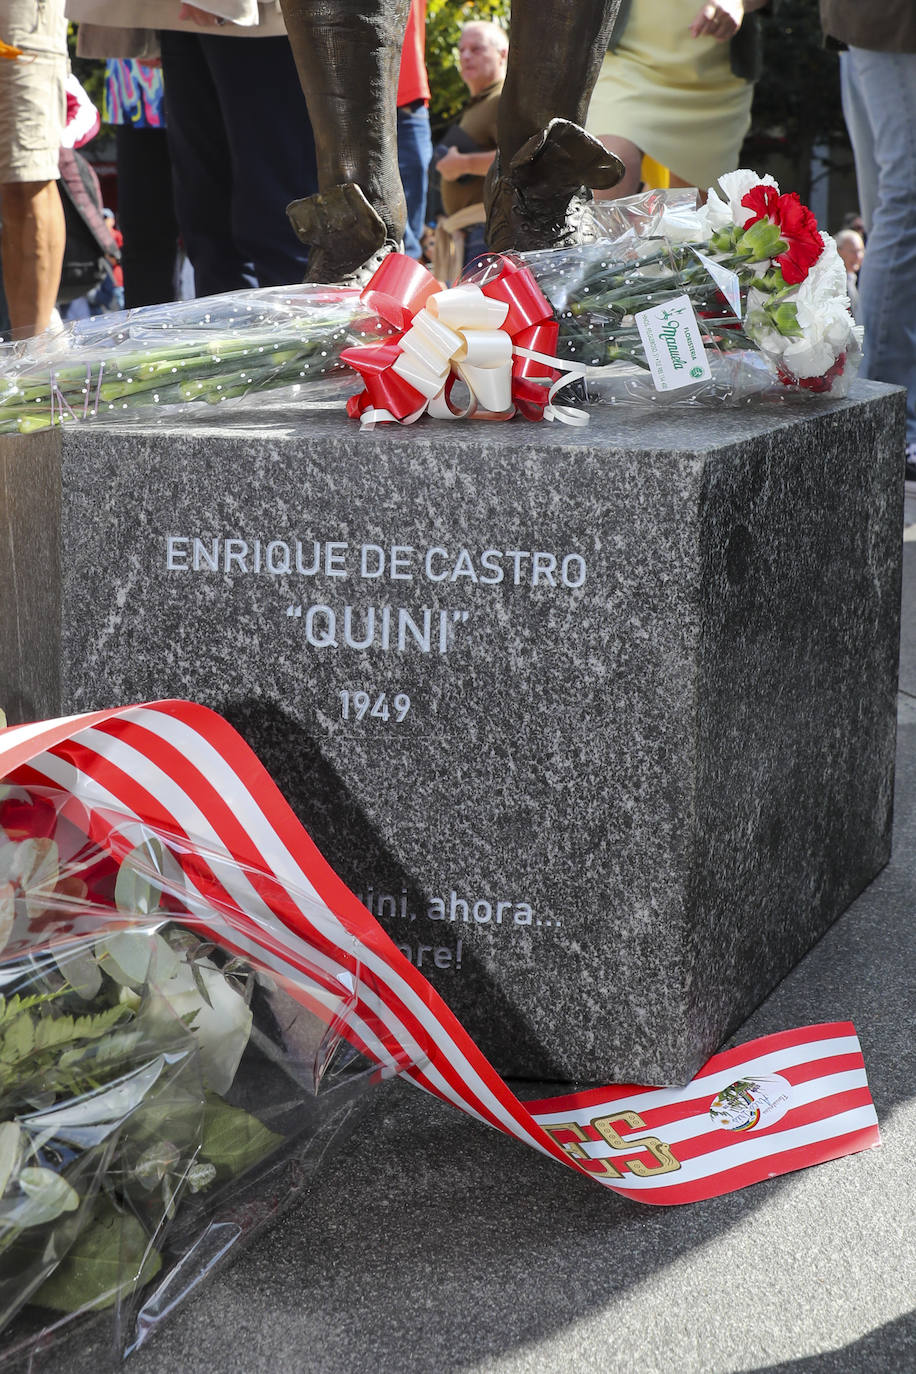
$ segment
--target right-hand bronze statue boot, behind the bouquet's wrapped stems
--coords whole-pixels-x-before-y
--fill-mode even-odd
[[[486,243],[493,253],[585,243],[584,225],[592,190],[608,190],[623,176],[623,164],[570,120],[551,120],[542,133],[523,143],[500,172],[499,155],[483,188]]]

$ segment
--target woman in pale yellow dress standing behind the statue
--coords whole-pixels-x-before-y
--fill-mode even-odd
[[[707,0],[698,12],[696,0],[625,0],[586,128],[626,174],[599,198],[633,195],[643,155],[670,170],[670,185],[706,188],[737,166],[759,76],[753,11],[766,3]]]

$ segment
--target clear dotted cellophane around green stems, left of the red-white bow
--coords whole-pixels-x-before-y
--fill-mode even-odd
[[[341,350],[389,333],[347,287],[228,291],[77,320],[0,348],[0,434],[147,427],[262,397],[343,405]]]

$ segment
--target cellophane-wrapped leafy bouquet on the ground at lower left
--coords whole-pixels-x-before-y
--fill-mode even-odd
[[[62,1367],[74,1323],[136,1349],[301,1195],[382,1076],[347,1039],[363,970],[291,962],[288,933],[253,947],[202,867],[254,907],[271,881],[0,786],[0,1364]]]

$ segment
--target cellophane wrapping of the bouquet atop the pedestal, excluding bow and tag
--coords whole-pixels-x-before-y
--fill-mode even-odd
[[[551,387],[566,398],[569,382],[584,383],[589,400],[643,405],[846,394],[861,330],[834,239],[797,195],[755,172],[726,173],[702,207],[696,199],[677,190],[596,203],[595,242],[511,256],[553,311],[555,356],[567,374],[563,381],[544,357],[526,363],[545,401],[529,404],[529,418],[545,412]],[[501,261],[478,258],[463,282],[485,284]],[[661,385],[640,317],[669,305],[683,317],[684,298],[699,339],[691,363],[703,365]],[[8,345],[0,353],[0,434],[106,420],[146,427],[177,415],[209,418],[216,405],[257,408],[265,397],[343,408],[357,378],[341,354],[401,338],[369,300],[335,286],[235,291]],[[562,408],[547,414],[563,418]]]

